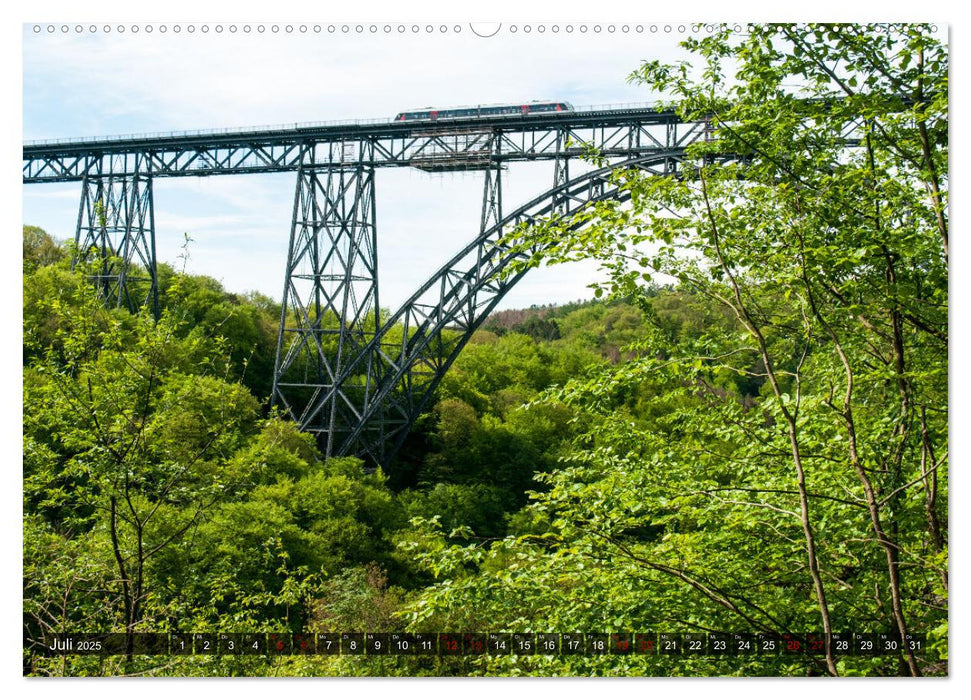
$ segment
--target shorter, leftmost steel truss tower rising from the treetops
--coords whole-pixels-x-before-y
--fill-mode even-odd
[[[142,154],[124,158],[134,161],[126,163],[131,174],[91,173],[82,181],[73,262],[97,265],[90,278],[107,304],[132,312],[146,305],[157,318],[151,163]]]

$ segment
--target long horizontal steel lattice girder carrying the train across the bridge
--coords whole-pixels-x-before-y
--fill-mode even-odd
[[[682,148],[704,133],[704,122],[683,122],[671,111],[637,109],[28,144],[23,181],[133,174],[136,156],[149,159],[155,177],[296,171],[308,148],[318,167],[340,167],[350,160],[376,168],[480,169],[579,157],[588,146],[608,157],[648,155]],[[501,150],[490,148],[496,137]],[[367,153],[365,159],[361,152]]]

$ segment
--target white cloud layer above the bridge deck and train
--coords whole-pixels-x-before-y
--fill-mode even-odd
[[[592,26],[592,25],[591,25]],[[563,99],[646,100],[626,77],[672,57],[671,37],[564,31],[481,39],[463,34],[46,34],[24,37],[28,138],[391,117],[423,105]],[[56,115],[59,101],[70,107]],[[46,114],[45,114],[46,113]],[[56,133],[35,133],[32,117]],[[70,129],[82,129],[70,131]]]

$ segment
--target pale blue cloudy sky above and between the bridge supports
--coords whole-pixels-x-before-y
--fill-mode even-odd
[[[644,103],[658,96],[628,76],[645,60],[682,57],[678,42],[690,33],[690,24],[648,22],[26,24],[23,138],[391,119],[416,107],[545,99]],[[511,211],[549,188],[552,164],[512,164],[503,177]],[[279,298],[295,182],[294,173],[157,178],[158,259],[181,266],[188,234],[187,271]],[[377,171],[382,306],[397,308],[475,237],[482,184],[475,172]],[[24,223],[73,238],[79,198],[79,183],[24,187]],[[589,298],[600,276],[592,262],[534,270],[500,308]]]

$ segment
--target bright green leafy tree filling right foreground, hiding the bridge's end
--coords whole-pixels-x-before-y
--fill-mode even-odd
[[[435,554],[454,578],[415,618],[478,604],[510,627],[921,632],[932,649],[864,661],[827,648],[761,672],[940,672],[945,47],[916,25],[719,29],[685,46],[693,62],[634,79],[714,138],[682,177],[619,172],[629,205],[523,245],[542,251],[533,264],[600,260],[607,291],[645,305],[646,283],[674,278],[728,322],[694,338],[662,325],[640,358],[556,393],[602,419],[544,477],[538,530]],[[618,397],[645,382],[657,393],[631,415]],[[459,575],[469,563],[478,576]]]

